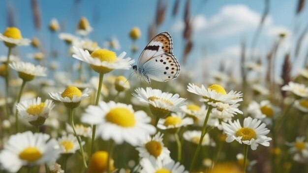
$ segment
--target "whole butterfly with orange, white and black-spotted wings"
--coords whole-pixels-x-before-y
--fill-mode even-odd
[[[156,35],[141,52],[132,69],[151,84],[151,80],[166,82],[180,74],[180,64],[173,55],[172,37],[164,32]]]

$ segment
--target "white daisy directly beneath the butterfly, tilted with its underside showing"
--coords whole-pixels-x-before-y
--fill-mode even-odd
[[[159,118],[164,118],[171,112],[181,111],[180,107],[185,105],[186,100],[178,94],[165,93],[151,87],[147,87],[146,90],[137,88],[132,95],[140,102],[149,104],[153,115]]]

